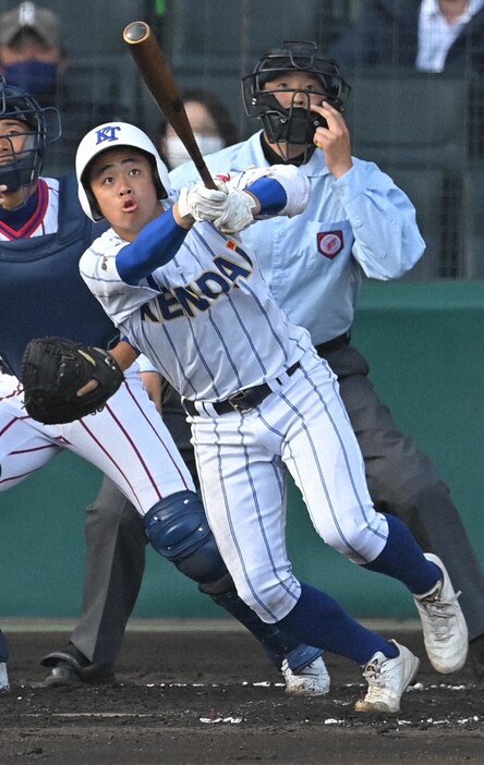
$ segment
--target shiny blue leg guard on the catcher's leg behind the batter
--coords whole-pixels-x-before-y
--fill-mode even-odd
[[[287,658],[292,671],[301,671],[322,655],[319,648],[301,645],[277,626],[263,622],[239,597],[194,491],[178,491],[162,499],[146,513],[144,525],[155,550],[252,632],[278,669]]]

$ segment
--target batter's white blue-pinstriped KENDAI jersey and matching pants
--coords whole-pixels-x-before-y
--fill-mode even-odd
[[[149,226],[162,253],[164,229]],[[217,545],[239,595],[264,621],[279,621],[301,593],[285,543],[287,470],[319,535],[352,560],[374,560],[388,535],[335,375],[277,306],[255,256],[211,223],[195,224],[173,259],[137,286],[119,276],[124,246],[107,232],[83,255],[81,275],[132,342],[196,401],[193,445]],[[216,402],[261,384],[269,392],[249,412],[217,412]]]

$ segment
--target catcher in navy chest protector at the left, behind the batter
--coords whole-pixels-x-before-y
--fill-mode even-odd
[[[80,209],[75,178],[39,178],[46,141],[46,110],[0,80],[0,354],[13,373],[0,376],[0,490],[23,481],[62,449],[73,451],[108,475],[140,515],[158,509],[162,524],[156,539],[152,538],[156,550],[195,580],[202,592],[228,595],[227,610],[263,642],[271,657],[285,656],[294,672],[315,660],[324,669],[319,648],[302,646],[298,639],[268,627],[237,596],[190,473],[143,388],[136,365],[94,416],[43,425],[25,412],[17,378],[31,339],[61,335],[107,348],[119,338],[80,278],[80,247],[82,252],[93,241],[93,224]],[[166,172],[162,180],[168,186]],[[117,350],[126,345],[121,342]],[[113,546],[120,519],[110,522],[112,534],[106,544]],[[123,597],[121,586],[120,593]],[[93,609],[95,618],[98,604]],[[117,632],[119,643],[124,623]],[[5,651],[0,641],[0,680],[2,664],[7,672]],[[325,669],[324,676],[326,680]],[[327,692],[328,683],[323,690]]]

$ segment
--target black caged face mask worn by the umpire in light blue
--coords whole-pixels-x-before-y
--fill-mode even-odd
[[[350,87],[342,78],[338,64],[328,59],[316,42],[286,40],[279,48],[269,50],[262,57],[252,74],[242,78],[242,98],[247,117],[262,120],[267,137],[271,143],[306,144],[314,149],[313,136],[317,126],[325,120],[307,108],[292,105],[285,109],[279,104],[275,90],[266,92],[264,86],[282,72],[305,72],[320,82],[317,93],[324,96],[335,109],[343,111],[344,97]],[[285,93],[291,93],[285,88]],[[294,95],[298,90],[293,92]]]

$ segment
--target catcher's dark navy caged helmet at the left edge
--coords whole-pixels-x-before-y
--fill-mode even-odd
[[[8,85],[0,75],[0,121],[8,119],[25,122],[28,126],[22,150],[14,151],[11,143],[12,161],[0,166],[0,183],[4,183],[9,191],[17,191],[37,180],[45,147],[60,137],[61,126],[55,107],[41,108],[26,90]]]

